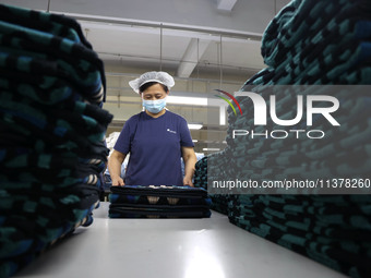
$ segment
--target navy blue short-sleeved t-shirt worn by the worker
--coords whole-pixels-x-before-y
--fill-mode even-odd
[[[125,184],[183,185],[182,146],[194,146],[187,121],[167,110],[158,118],[146,112],[131,117],[113,148],[130,153]]]

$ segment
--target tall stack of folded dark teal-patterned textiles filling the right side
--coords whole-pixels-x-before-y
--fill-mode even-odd
[[[214,182],[220,185],[237,179],[258,184],[330,182],[334,186],[328,191],[219,189],[213,193],[229,197],[232,223],[351,277],[371,275],[370,38],[367,0],[292,0],[287,4],[263,35],[262,56],[267,68],[241,87],[241,92],[264,98],[266,125],[254,122],[254,112],[262,107],[236,93],[243,114],[228,109],[227,147],[208,156],[206,176],[199,172],[198,177],[207,180],[204,188],[208,192]],[[320,95],[338,100],[339,108],[330,116],[339,125],[319,113],[308,124],[308,96]],[[301,121],[277,124],[272,110],[280,120],[295,119],[299,96],[303,100]],[[313,107],[333,105],[314,101]],[[348,179],[343,182],[354,179],[357,189],[347,190],[349,183],[340,189],[339,178]],[[338,193],[357,194],[335,195]]]

